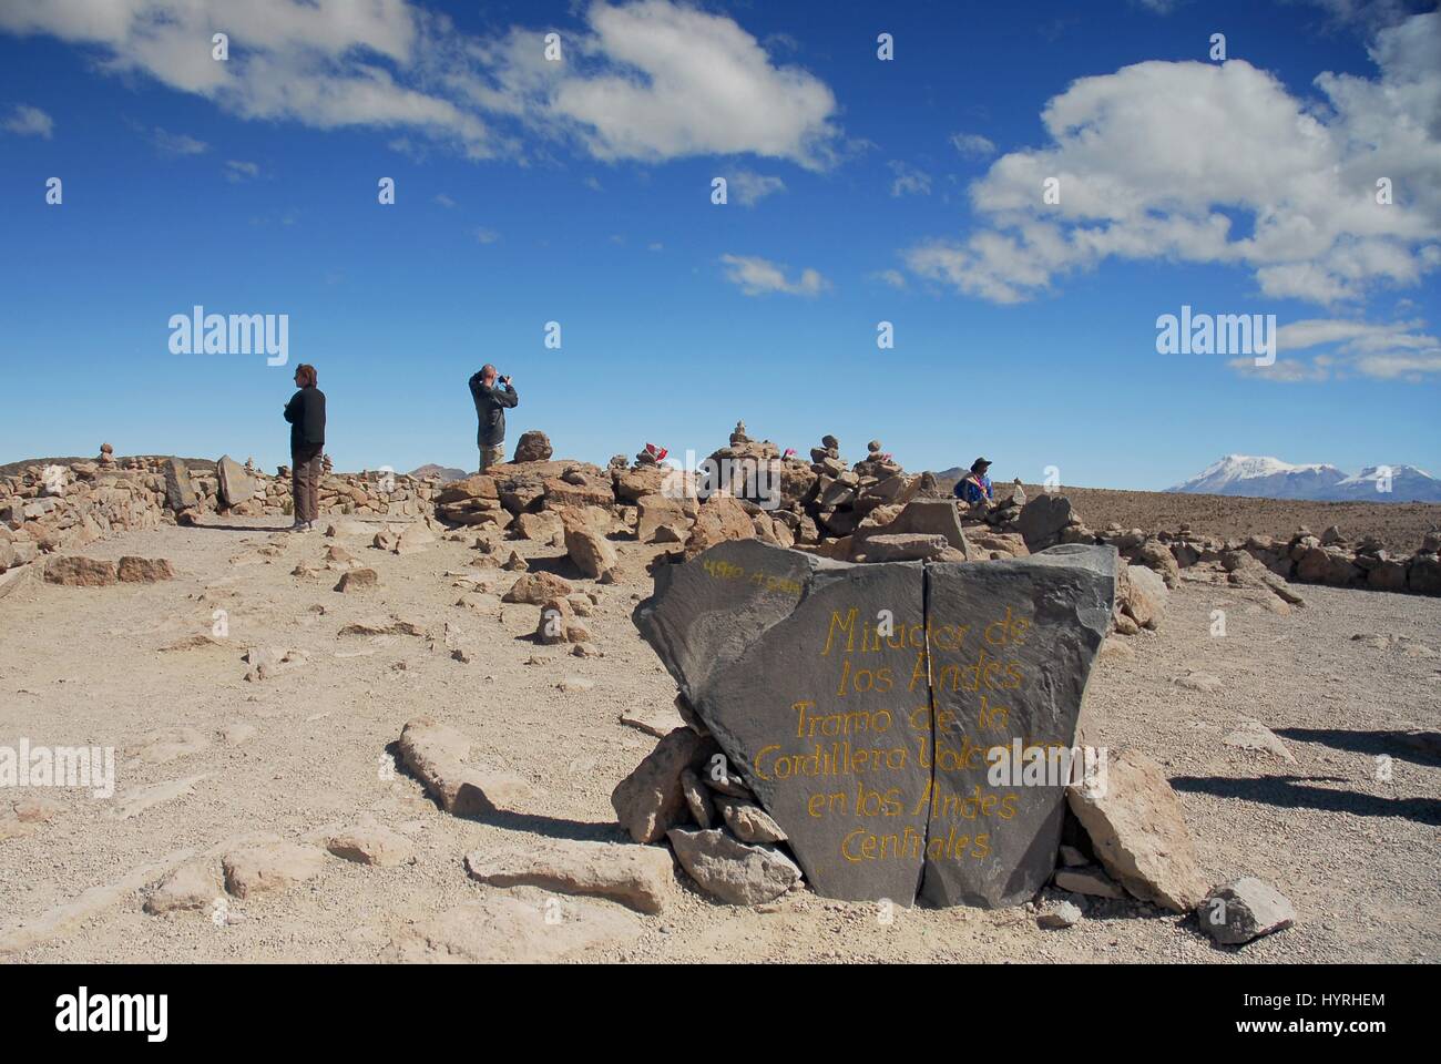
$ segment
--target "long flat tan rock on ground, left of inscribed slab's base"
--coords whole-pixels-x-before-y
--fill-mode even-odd
[[[549,839],[467,854],[465,871],[493,887],[589,894],[637,913],[660,913],[676,895],[674,861],[664,846]]]

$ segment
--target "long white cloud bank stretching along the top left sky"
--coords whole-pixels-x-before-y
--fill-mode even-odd
[[[520,153],[506,125],[604,160],[757,154],[821,169],[834,157],[830,88],[772,63],[735,20],[672,0],[594,0],[581,17],[563,62],[543,58],[549,27],[471,37],[408,0],[6,0],[0,32],[97,48],[104,71],[147,74],[242,118],[388,128],[474,159]],[[216,32],[231,37],[226,62],[210,56]]]

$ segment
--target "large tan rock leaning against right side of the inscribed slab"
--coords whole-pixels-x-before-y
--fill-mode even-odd
[[[1133,895],[1174,913],[1206,895],[1180,800],[1146,754],[1112,755],[1105,786],[1074,786],[1068,800],[1105,871]]]

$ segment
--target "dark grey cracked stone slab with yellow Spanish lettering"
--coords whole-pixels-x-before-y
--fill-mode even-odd
[[[1112,548],[856,565],[728,542],[659,568],[635,624],[818,894],[1012,905],[1055,869],[1065,780],[991,784],[986,754],[1072,747],[1114,565]]]

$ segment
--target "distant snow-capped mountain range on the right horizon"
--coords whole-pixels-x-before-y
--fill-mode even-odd
[[[1389,492],[1380,490],[1385,484],[1379,483],[1386,471],[1391,474]],[[1441,502],[1441,480],[1415,466],[1368,466],[1347,476],[1336,466],[1293,466],[1249,454],[1228,454],[1186,483],[1166,490],[1316,502]]]

